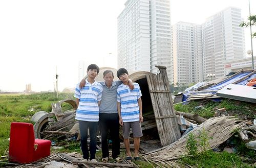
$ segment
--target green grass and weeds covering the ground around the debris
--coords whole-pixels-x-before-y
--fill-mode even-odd
[[[54,93],[34,93],[29,95],[24,94],[0,94],[0,156],[7,156],[7,151],[9,148],[9,136],[10,136],[10,124],[12,122],[27,122],[31,123],[31,117],[38,111],[47,111],[52,110],[51,103],[55,103],[62,99],[74,99],[73,93],[65,94],[60,93],[58,99],[55,98]],[[204,108],[198,108],[200,104],[192,102],[189,105],[176,105],[175,109],[183,112],[197,113],[200,116],[208,118],[213,115],[214,107],[226,107],[227,111],[232,112],[232,114],[237,116],[244,116],[245,114],[248,117],[255,117],[255,107],[248,106],[246,103],[240,103],[236,106],[236,103],[225,100],[222,103],[207,103]],[[69,109],[70,107],[63,107],[64,110]],[[243,115],[241,111],[243,110]],[[254,110],[254,111],[253,111]],[[74,143],[72,145],[72,143]],[[79,142],[72,142],[69,144],[69,147],[62,149],[61,152],[80,152]],[[61,142],[63,145],[63,142]],[[238,146],[238,152],[236,154],[229,154],[226,152],[207,152],[198,154],[196,156],[185,156],[177,160],[180,167],[253,167],[253,164],[256,160],[256,152],[253,150],[248,150],[245,148],[244,144],[241,142],[236,142]],[[121,155],[124,157],[125,152],[122,150]],[[239,157],[238,157],[239,156]],[[243,158],[249,158],[248,161]],[[97,160],[101,159],[101,151],[97,152]],[[110,160],[112,161],[112,160]],[[254,161],[254,162],[253,162]],[[151,164],[146,161],[137,161],[136,164],[139,167],[153,167]],[[156,167],[156,165],[155,165]]]

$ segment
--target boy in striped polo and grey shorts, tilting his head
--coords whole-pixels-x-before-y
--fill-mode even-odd
[[[142,136],[141,125],[142,117],[142,102],[141,91],[138,83],[134,84],[134,89],[131,90],[128,86],[129,76],[128,71],[124,68],[117,70],[117,77],[123,82],[117,88],[117,111],[119,116],[119,124],[123,126],[124,146],[126,149],[126,160],[132,159],[130,151],[130,128],[132,128],[134,137],[134,159],[139,158],[140,137]]]

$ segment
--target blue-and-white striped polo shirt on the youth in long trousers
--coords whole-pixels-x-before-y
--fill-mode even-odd
[[[79,88],[76,85],[75,98],[79,99],[79,105],[76,110],[76,119],[80,121],[98,122],[99,121],[99,106],[98,101],[101,101],[103,87],[95,81],[93,84],[86,80],[86,85]]]

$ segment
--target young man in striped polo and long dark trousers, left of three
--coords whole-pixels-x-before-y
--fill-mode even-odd
[[[88,128],[90,130],[90,160],[97,162],[96,153],[96,132],[99,121],[99,105],[102,95],[102,85],[95,81],[95,77],[99,73],[99,67],[91,64],[87,68],[88,78],[86,85],[79,88],[76,85],[75,98],[78,106],[76,110],[76,119],[79,122],[79,130],[81,135],[81,150],[85,161],[89,160],[89,151],[87,145]]]

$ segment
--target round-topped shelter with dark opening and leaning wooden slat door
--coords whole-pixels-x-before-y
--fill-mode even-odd
[[[140,85],[142,111],[154,111],[155,122],[162,146],[169,145],[181,137],[175,114],[165,66],[156,66],[159,74],[139,71],[129,77]]]

